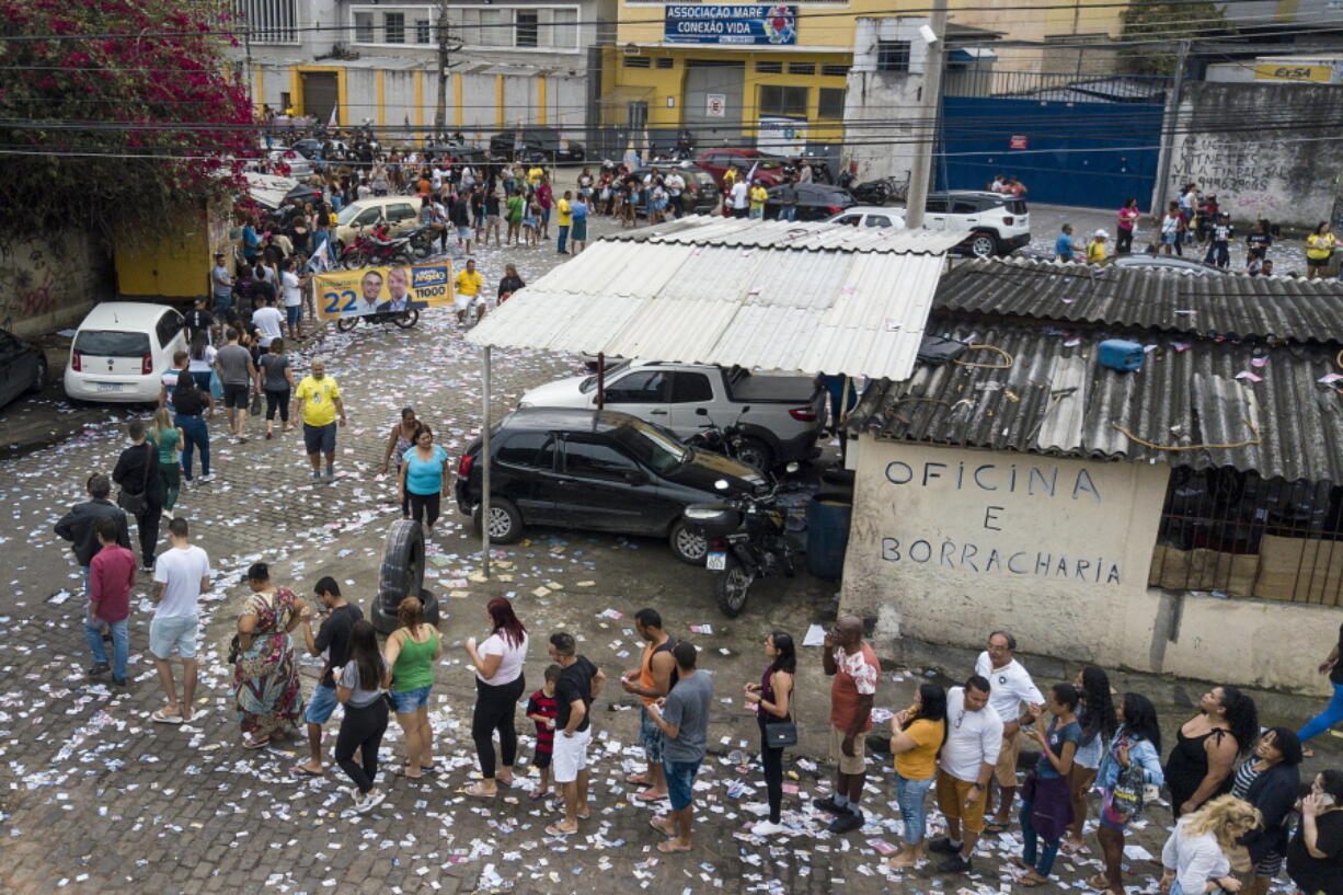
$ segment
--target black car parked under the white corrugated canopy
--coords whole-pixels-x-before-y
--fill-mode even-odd
[[[490,540],[524,525],[667,538],[678,559],[702,564],[702,535],[686,531],[688,504],[767,493],[751,466],[688,448],[666,429],[611,410],[524,407],[490,431]],[[481,525],[481,441],[458,461],[457,507]],[[714,488],[724,480],[727,491]]]

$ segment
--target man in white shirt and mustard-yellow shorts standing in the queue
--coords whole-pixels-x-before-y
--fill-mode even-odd
[[[937,758],[937,808],[947,818],[947,835],[928,843],[945,855],[937,869],[971,872],[970,856],[984,829],[988,781],[998,762],[1003,723],[990,703],[990,684],[972,675],[964,687],[947,691],[947,739]]]

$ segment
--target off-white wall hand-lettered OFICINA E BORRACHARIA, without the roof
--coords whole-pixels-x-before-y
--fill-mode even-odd
[[[877,618],[878,652],[898,637],[972,649],[1005,628],[1062,660],[1323,692],[1301,657],[1328,654],[1338,610],[1147,587],[1168,466],[872,435],[855,449],[841,602]]]

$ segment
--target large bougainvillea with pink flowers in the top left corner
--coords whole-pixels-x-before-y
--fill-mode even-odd
[[[257,155],[220,0],[0,0],[0,228],[153,228]]]

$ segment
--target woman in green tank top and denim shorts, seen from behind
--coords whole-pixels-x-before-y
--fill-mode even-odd
[[[396,723],[406,732],[406,765],[402,774],[411,779],[434,770],[434,731],[428,723],[428,692],[434,685],[434,663],[443,644],[432,625],[424,622],[424,606],[407,597],[396,607],[399,628],[387,637],[384,657],[388,687],[396,706]]]

